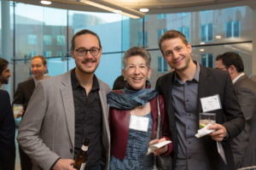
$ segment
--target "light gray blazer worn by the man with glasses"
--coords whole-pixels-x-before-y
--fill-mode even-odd
[[[33,170],[48,170],[59,157],[73,159],[75,113],[70,73],[39,81],[20,123],[17,140],[32,159]],[[111,89],[105,82],[98,81],[102,100],[102,144],[106,149],[105,170],[108,170],[110,133],[106,95]]]

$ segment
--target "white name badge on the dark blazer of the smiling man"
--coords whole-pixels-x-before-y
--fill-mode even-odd
[[[206,98],[201,98],[200,100],[203,112],[221,109],[221,103],[218,94]]]

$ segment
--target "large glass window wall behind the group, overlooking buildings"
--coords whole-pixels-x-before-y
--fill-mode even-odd
[[[157,39],[165,30],[182,31],[192,44],[192,59],[208,67],[214,65],[213,56],[232,50],[241,53],[246,73],[250,75],[253,71],[253,10],[249,7],[218,8],[178,14],[147,14],[144,18],[147,22],[133,20],[120,14],[48,8],[25,3],[15,3],[11,10],[11,13],[15,14],[10,20],[10,28],[15,29],[11,31],[11,37],[15,37],[15,44],[12,45],[15,49],[11,51],[14,51],[15,58],[20,59],[14,65],[15,84],[25,81],[29,76],[28,65],[31,56],[35,54],[45,54],[48,57],[51,63],[48,65],[51,76],[75,67],[70,55],[71,39],[82,29],[95,31],[101,38],[103,51],[96,76],[108,82],[110,87],[121,74],[122,54],[133,46],[145,47],[151,54],[153,74],[150,82],[154,87],[157,78],[170,69],[163,57],[157,57],[162,56]],[[55,20],[56,18],[58,20]],[[15,35],[12,35],[14,32]],[[214,35],[221,39],[215,39]],[[236,44],[232,44],[225,36],[237,37],[233,39]],[[201,45],[200,42],[211,43]],[[201,48],[205,51],[202,52]]]

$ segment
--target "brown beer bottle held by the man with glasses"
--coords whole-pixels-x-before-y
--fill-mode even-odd
[[[79,155],[76,157],[76,160],[74,162],[74,168],[78,170],[84,170],[86,161],[87,161],[87,150],[89,146],[90,139],[84,139],[84,144],[81,147],[81,150],[79,151]]]

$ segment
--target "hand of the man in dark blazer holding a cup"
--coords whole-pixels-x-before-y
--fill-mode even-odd
[[[227,136],[227,130],[221,124],[214,123],[213,125],[207,127],[207,129],[215,129],[215,131],[210,133],[209,135],[212,136],[213,140],[216,140],[218,142],[222,141]]]

